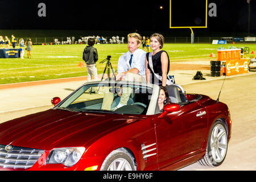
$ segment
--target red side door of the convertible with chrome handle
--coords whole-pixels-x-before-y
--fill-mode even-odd
[[[163,119],[155,118],[159,168],[200,152],[207,131],[207,110],[191,103],[168,113]]]

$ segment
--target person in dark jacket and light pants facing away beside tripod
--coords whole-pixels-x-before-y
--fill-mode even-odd
[[[95,43],[95,39],[89,38],[88,39],[88,46],[84,48],[84,52],[82,54],[82,59],[86,63],[87,74],[88,74],[88,81],[98,80],[98,73],[96,68],[96,61],[98,60],[98,52],[95,47],[93,47]]]

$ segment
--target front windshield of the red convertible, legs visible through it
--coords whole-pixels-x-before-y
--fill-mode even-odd
[[[84,85],[55,109],[111,114],[146,114],[152,88],[132,84]]]

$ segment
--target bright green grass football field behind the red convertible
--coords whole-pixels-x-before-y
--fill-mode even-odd
[[[0,59],[0,84],[50,80],[55,78],[86,76],[86,68],[77,67],[82,60],[82,45],[52,45],[34,46],[32,59]],[[232,44],[223,45],[228,48]],[[249,47],[256,51],[256,44],[238,44],[237,47]],[[99,59],[97,61],[98,74],[103,73],[106,62],[100,64],[108,55],[111,55],[113,69],[117,69],[118,57],[127,52],[127,44],[96,44]],[[217,48],[220,45],[212,44],[164,44],[171,63],[177,61],[216,60]],[[142,48],[142,47],[141,47]],[[214,53],[216,57],[209,57]],[[249,55],[250,56],[250,55]],[[171,69],[172,71],[172,69]]]

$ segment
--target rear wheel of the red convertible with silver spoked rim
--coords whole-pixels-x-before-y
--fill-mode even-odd
[[[207,150],[203,159],[198,161],[202,166],[220,166],[228,151],[228,133],[225,124],[217,120],[210,130]]]

